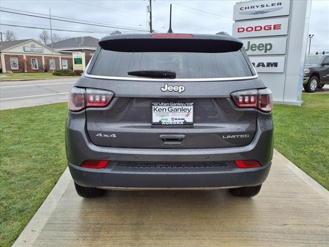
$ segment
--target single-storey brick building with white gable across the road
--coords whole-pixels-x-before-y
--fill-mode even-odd
[[[0,43],[2,73],[47,72],[70,68],[72,52],[62,52],[34,40],[14,40]]]

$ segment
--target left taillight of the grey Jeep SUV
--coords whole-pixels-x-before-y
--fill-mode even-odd
[[[80,89],[72,87],[68,100],[68,110],[79,112],[86,107],[106,107],[114,93],[106,90]]]

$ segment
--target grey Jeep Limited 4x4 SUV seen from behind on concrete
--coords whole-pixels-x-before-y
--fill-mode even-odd
[[[70,91],[76,190],[218,189],[257,195],[272,159],[271,92],[228,35],[114,34]]]

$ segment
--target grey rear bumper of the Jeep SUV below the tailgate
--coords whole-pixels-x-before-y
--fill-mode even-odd
[[[257,131],[247,146],[208,149],[111,148],[93,144],[86,131],[84,112],[69,113],[66,155],[74,181],[85,187],[119,188],[220,188],[262,184],[273,153],[271,114],[258,113]],[[85,160],[107,160],[103,169],[83,168]],[[237,168],[232,161],[257,160],[257,168]],[[227,162],[224,168],[184,170],[122,170],[115,162]]]

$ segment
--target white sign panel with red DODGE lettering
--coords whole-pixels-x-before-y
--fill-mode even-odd
[[[277,36],[288,33],[288,17],[233,23],[232,36],[237,38]]]

